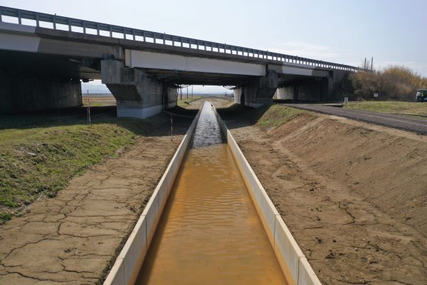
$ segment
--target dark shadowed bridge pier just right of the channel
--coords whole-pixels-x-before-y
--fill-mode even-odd
[[[278,74],[269,71],[267,76],[257,78],[246,86],[234,90],[234,100],[241,105],[253,108],[273,102],[273,95],[278,88]]]

